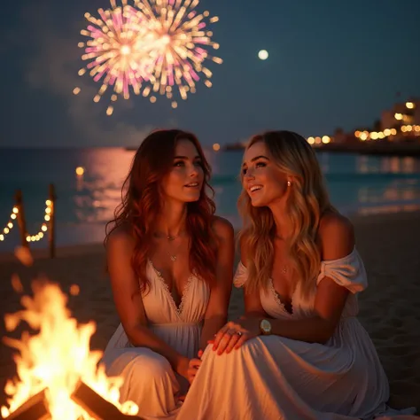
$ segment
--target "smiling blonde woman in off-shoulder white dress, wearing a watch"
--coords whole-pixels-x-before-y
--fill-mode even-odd
[[[254,136],[242,185],[234,283],[245,287],[245,316],[207,347],[178,418],[398,414],[386,406],[384,369],[356,318],[367,277],[354,229],[331,206],[315,152],[290,131]]]

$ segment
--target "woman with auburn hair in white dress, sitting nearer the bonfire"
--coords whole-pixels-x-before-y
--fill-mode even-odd
[[[152,132],[105,237],[121,324],[103,362],[124,378],[121,402],[136,402],[144,418],[175,416],[202,350],[227,321],[233,229],[214,216],[209,177],[196,136]]]

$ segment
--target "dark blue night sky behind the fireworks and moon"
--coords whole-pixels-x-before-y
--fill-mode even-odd
[[[2,4],[1,145],[137,145],[158,127],[189,129],[204,144],[268,128],[323,136],[372,124],[397,92],[420,97],[420,0],[202,0],[198,10],[221,19],[214,87],[200,83],[175,110],[166,97],[119,100],[107,117],[107,101],[92,101],[100,85],[77,75],[84,12],[100,7],[109,1]]]

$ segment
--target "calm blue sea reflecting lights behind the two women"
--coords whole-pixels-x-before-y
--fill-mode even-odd
[[[105,222],[120,202],[121,184],[134,152],[124,149],[1,150],[0,229],[8,221],[17,189],[24,195],[27,229],[43,222],[49,183],[58,195],[58,245],[100,242]],[[242,152],[206,152],[213,170],[217,213],[240,225],[236,202]],[[331,199],[345,214],[372,214],[420,208],[420,159],[320,153]],[[85,174],[75,174],[76,167]],[[19,244],[13,229],[0,252]],[[41,241],[39,246],[46,246]]]

